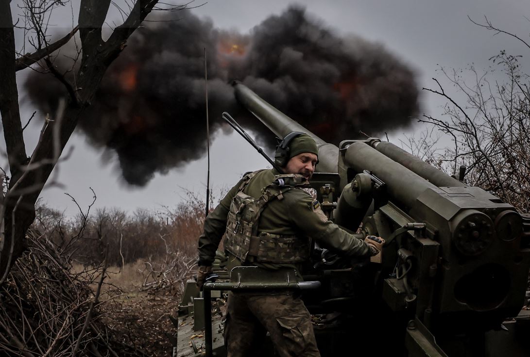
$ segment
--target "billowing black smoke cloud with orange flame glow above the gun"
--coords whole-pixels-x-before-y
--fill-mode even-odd
[[[235,102],[233,79],[333,143],[358,138],[359,131],[405,126],[418,111],[409,67],[382,45],[340,38],[301,7],[270,16],[249,34],[216,29],[190,13],[149,22],[109,68],[80,121],[92,145],[116,151],[129,184],[145,185],[156,172],[205,154],[205,48],[214,134],[222,127],[220,114],[230,111],[260,133],[262,143],[273,143]],[[25,88],[45,112],[66,95],[55,79],[38,73]]]

